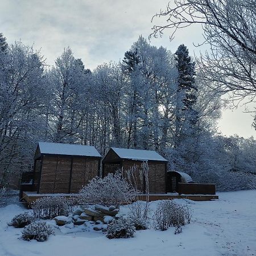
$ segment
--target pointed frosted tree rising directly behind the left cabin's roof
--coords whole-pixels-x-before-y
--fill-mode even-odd
[[[49,73],[53,86],[52,130],[55,142],[76,142],[81,116],[78,114],[85,96],[86,72],[70,48],[57,58]]]

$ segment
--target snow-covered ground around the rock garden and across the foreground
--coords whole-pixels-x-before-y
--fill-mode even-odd
[[[218,193],[219,200],[175,200],[193,210],[192,223],[183,232],[141,230],[127,239],[106,238],[99,232],[49,237],[46,242],[19,240],[23,229],[7,226],[15,214],[26,211],[10,204],[0,208],[0,255],[256,255],[256,190]],[[157,202],[151,203],[151,209]],[[127,207],[121,211],[126,212]]]

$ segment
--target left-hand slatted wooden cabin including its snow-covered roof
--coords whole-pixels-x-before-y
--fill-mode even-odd
[[[77,193],[100,174],[100,160],[93,146],[39,142],[34,170],[22,175],[21,191]]]

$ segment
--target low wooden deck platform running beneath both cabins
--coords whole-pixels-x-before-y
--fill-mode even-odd
[[[34,202],[36,199],[40,199],[46,196],[78,196],[79,194],[38,194],[36,192],[23,192],[22,199],[26,201],[26,203],[30,204]],[[139,199],[142,201],[146,201],[146,195],[139,195]],[[177,193],[168,193],[168,194],[150,194],[150,201],[156,200],[167,200],[167,199],[189,199],[193,201],[210,201],[218,199],[217,195],[179,195]]]

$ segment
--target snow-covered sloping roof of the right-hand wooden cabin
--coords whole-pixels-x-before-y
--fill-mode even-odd
[[[152,150],[135,150],[131,148],[117,148],[112,147],[112,150],[119,156],[119,158],[132,159],[132,160],[155,160],[166,161],[163,156]]]

